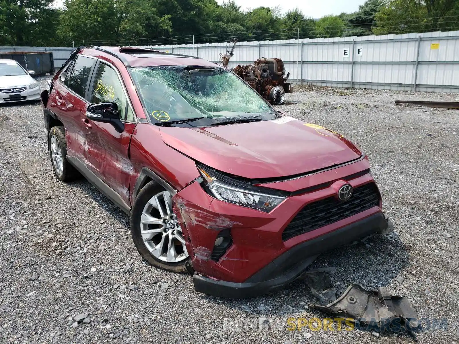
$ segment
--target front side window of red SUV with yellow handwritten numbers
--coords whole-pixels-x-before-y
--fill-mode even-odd
[[[95,73],[91,102],[100,103],[104,101],[118,105],[120,119],[134,122],[134,113],[129,106],[118,74],[112,67],[101,62]]]

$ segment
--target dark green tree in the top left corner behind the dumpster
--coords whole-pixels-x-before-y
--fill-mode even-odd
[[[0,0],[0,44],[49,45],[53,42],[59,11],[53,0]]]

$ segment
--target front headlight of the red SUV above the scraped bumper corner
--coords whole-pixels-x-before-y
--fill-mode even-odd
[[[263,193],[259,190],[262,189],[260,187],[252,187],[250,185],[241,185],[239,187],[237,181],[232,181],[235,183],[234,185],[230,185],[228,180],[219,180],[218,176],[216,176],[218,173],[211,171],[209,168],[202,165],[197,167],[204,178],[205,187],[207,187],[208,191],[218,200],[244,205],[267,213],[285,200],[285,197],[279,195],[282,193],[281,191],[265,189],[266,193]],[[269,194],[271,192],[279,194]]]

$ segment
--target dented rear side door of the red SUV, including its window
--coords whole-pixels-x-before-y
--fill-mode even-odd
[[[95,58],[77,55],[65,78],[59,78],[53,96],[48,100],[51,111],[56,113],[65,127],[67,155],[84,161],[86,141],[81,113],[86,112],[89,102],[85,100],[88,84],[95,67]]]

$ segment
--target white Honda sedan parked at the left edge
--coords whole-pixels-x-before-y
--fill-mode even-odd
[[[30,76],[34,73],[34,71],[26,71],[14,60],[0,59],[0,104],[39,100],[40,86]]]

